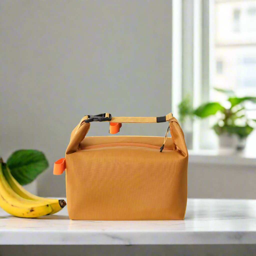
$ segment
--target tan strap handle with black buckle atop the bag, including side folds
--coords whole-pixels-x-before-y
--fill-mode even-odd
[[[105,118],[111,118],[111,120],[104,120]],[[173,143],[176,145],[177,150],[181,151],[183,155],[187,155],[187,147],[183,131],[180,128],[176,118],[173,117],[172,113],[160,117],[112,117],[109,113],[99,115],[86,115],[81,119],[79,124],[72,131],[66,154],[71,154],[78,151],[79,144],[87,135],[90,129],[90,122],[93,121],[107,121],[111,123],[160,123],[168,121]]]

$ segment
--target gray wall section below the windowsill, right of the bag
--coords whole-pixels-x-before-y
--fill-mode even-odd
[[[188,164],[190,198],[256,199],[255,182],[255,166]]]

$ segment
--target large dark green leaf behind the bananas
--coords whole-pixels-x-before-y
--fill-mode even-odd
[[[44,153],[37,150],[15,151],[7,160],[13,177],[21,184],[32,182],[49,165]]]

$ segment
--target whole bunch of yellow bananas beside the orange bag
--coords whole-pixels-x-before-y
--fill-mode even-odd
[[[37,218],[60,211],[66,202],[35,196],[24,189],[0,160],[0,207],[11,215]]]

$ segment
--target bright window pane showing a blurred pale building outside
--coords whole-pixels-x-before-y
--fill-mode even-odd
[[[256,26],[256,1],[215,1],[213,8],[216,70],[212,83],[241,96],[250,95],[256,91],[256,33],[252,33]],[[225,63],[225,70],[219,59]],[[221,97],[217,92],[212,96]]]

